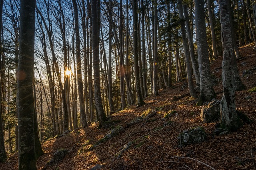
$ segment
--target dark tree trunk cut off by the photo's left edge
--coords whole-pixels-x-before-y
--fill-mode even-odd
[[[3,22],[3,0],[0,0],[0,32],[2,32]],[[0,35],[0,59],[2,61],[2,35]],[[2,77],[2,74],[1,74]],[[2,79],[2,78],[1,78]],[[0,162],[4,162],[7,158],[5,148],[4,148],[4,133],[3,133],[3,125],[2,125],[2,113],[0,113]]]

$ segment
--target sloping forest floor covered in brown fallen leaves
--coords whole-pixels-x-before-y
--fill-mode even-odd
[[[206,170],[210,166],[216,170],[256,169],[256,92],[248,92],[256,86],[256,70],[243,75],[244,70],[256,67],[253,46],[254,44],[250,44],[241,47],[242,57],[237,60],[246,90],[236,92],[236,108],[254,120],[250,124],[244,124],[239,131],[221,136],[212,135],[217,122],[204,124],[200,119],[200,109],[207,104],[195,107],[197,99],[190,97],[173,102],[174,96],[189,92],[188,89],[181,88],[184,82],[179,82],[172,89],[159,90],[160,95],[157,97],[145,98],[146,104],[142,107],[129,106],[112,115],[111,120],[120,121],[118,126],[124,127],[124,130],[92,151],[88,151],[88,148],[108,132],[108,129],[97,129],[98,123],[45,141],[42,144],[45,154],[38,158],[38,169],[41,170],[58,149],[67,149],[69,153],[47,170],[86,170],[96,164],[102,165],[105,170]],[[211,74],[216,80],[214,90],[219,92],[216,99],[222,98],[221,63],[222,57],[211,63]],[[157,110],[154,117],[126,127],[127,123],[141,117],[142,113],[154,110]],[[163,119],[170,111],[176,113],[169,119]],[[208,141],[179,148],[178,134],[197,126],[205,129]],[[116,154],[128,142],[132,142],[132,145],[117,158]],[[9,155],[6,162],[0,164],[0,169],[18,169],[18,154]]]

